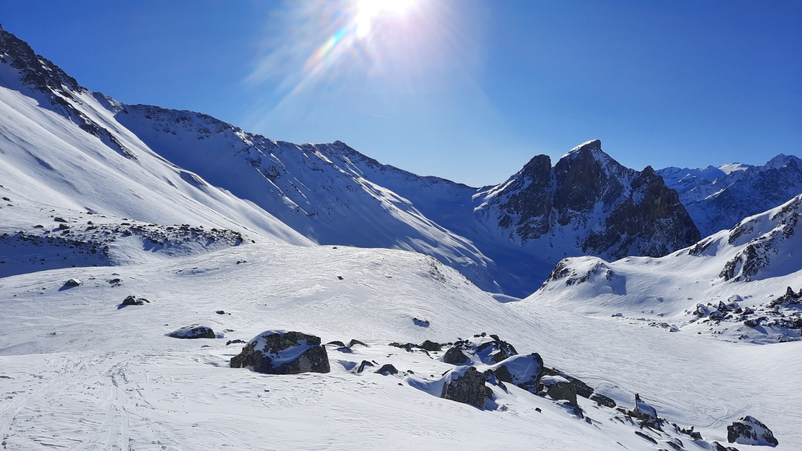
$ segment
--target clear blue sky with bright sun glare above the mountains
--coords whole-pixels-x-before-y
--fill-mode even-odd
[[[469,185],[596,138],[635,169],[802,154],[802,2],[370,1],[9,1],[0,23],[122,102]]]

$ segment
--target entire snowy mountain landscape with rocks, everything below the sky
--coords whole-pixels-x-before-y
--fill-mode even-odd
[[[802,449],[795,158],[593,140],[477,189],[119,104],[0,28],[0,447]],[[780,176],[700,234],[688,193]]]

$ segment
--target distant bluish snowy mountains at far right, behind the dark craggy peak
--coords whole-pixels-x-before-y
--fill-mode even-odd
[[[802,160],[796,156],[780,154],[762,166],[733,163],[711,168],[657,171],[678,191],[703,235],[729,229],[744,217],[802,193]]]

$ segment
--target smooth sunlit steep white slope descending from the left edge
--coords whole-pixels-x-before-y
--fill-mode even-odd
[[[4,233],[49,220],[56,209],[311,244],[263,209],[156,155],[114,120],[118,108],[0,29],[0,191],[12,200],[0,210]],[[16,230],[8,230],[12,222]]]

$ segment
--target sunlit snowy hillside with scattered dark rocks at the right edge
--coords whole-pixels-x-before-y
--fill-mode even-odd
[[[755,343],[802,332],[802,195],[662,258],[566,258],[520,308],[618,315]],[[775,302],[791,287],[792,295]]]

